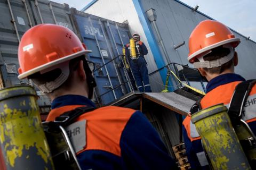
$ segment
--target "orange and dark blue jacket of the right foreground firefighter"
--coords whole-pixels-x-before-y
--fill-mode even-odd
[[[234,73],[222,74],[212,79],[207,84],[206,95],[200,102],[202,109],[220,103],[229,106],[237,84],[242,81],[245,81],[245,79]],[[256,86],[252,88],[243,111],[245,114],[242,119],[249,124],[253,133],[256,134]],[[191,168],[210,169],[202,147],[201,137],[199,137],[195,125],[191,122],[191,116],[187,116],[183,121],[183,137]]]

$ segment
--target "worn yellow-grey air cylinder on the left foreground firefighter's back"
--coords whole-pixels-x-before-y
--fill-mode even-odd
[[[36,99],[36,91],[30,86],[0,90],[3,169],[54,169]]]

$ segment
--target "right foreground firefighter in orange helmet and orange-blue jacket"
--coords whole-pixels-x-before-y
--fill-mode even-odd
[[[196,105],[197,107],[191,108],[192,114],[198,109],[220,103],[228,106],[237,84],[245,81],[241,75],[234,72],[234,67],[238,64],[235,48],[239,43],[240,39],[236,38],[226,25],[218,21],[202,21],[191,33],[188,61],[193,63],[202,77],[209,81],[206,86],[206,95]],[[255,98],[255,96],[256,87],[254,86],[248,99]],[[247,104],[243,109],[242,119],[249,124],[255,134],[256,105]],[[191,122],[190,115],[183,121],[183,137],[191,167],[193,169],[209,169],[201,137]]]

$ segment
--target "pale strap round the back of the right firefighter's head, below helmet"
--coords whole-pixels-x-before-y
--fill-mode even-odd
[[[224,48],[229,48],[230,53],[227,56],[221,57],[217,60],[212,60],[212,61],[205,61],[204,56],[211,53],[211,50],[209,53],[204,54],[203,56],[198,57],[199,62],[194,63],[195,68],[213,68],[213,67],[218,67],[221,66],[227,62],[229,62],[235,54],[235,49],[233,47],[229,46],[223,46]]]

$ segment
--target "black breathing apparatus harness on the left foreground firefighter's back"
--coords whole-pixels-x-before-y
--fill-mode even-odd
[[[77,117],[94,109],[94,107],[77,107],[56,117],[54,122],[43,122],[55,169],[81,170],[65,128],[74,123]]]

